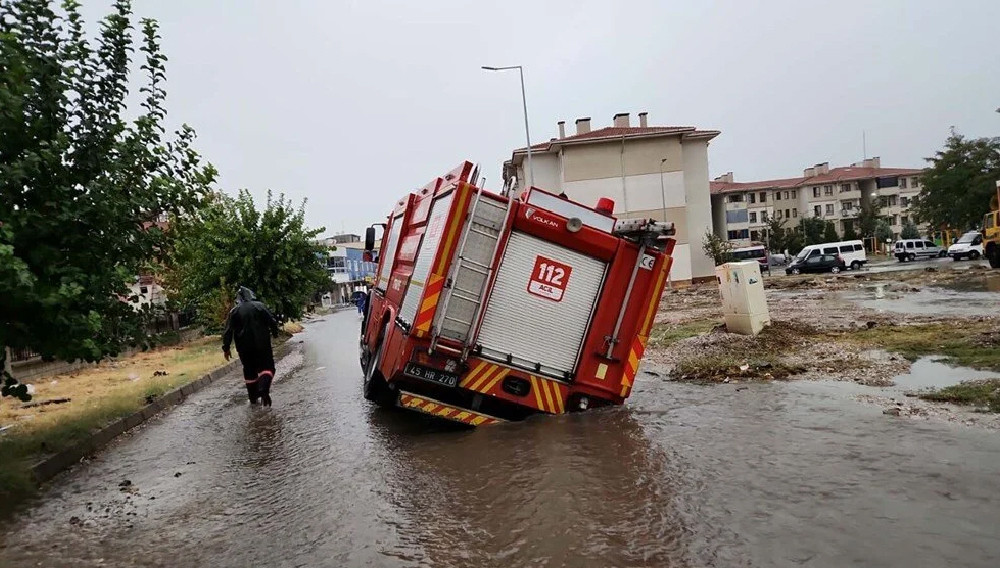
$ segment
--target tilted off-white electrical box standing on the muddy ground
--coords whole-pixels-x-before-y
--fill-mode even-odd
[[[730,333],[757,335],[771,323],[764,296],[764,279],[757,261],[730,262],[715,267],[722,295],[722,314]]]

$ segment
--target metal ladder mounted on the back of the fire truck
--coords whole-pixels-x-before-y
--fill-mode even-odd
[[[431,328],[429,351],[440,350],[465,360],[475,335],[475,323],[482,315],[486,291],[493,276],[493,261],[500,248],[501,236],[510,222],[513,199],[506,203],[476,188],[459,242],[455,262],[442,290],[443,298]],[[460,344],[454,348],[441,340]]]

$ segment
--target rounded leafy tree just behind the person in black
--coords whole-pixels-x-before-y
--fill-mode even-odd
[[[237,286],[253,290],[279,318],[301,317],[329,281],[315,243],[324,229],[306,228],[304,206],[268,192],[259,211],[246,190],[235,198],[214,195],[196,214],[171,223],[169,287],[210,328],[224,321]]]

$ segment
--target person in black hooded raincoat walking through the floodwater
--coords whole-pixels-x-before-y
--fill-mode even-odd
[[[236,307],[229,312],[226,330],[222,334],[222,353],[228,361],[229,346],[236,343],[236,352],[243,363],[243,380],[250,404],[261,402],[271,406],[271,381],[274,379],[274,352],[271,337],[278,336],[278,322],[254,293],[240,286]]]

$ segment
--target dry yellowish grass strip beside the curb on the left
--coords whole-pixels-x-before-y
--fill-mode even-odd
[[[0,401],[0,426],[12,426],[0,433],[0,514],[33,492],[30,468],[41,457],[80,443],[139,410],[149,398],[190,383],[223,363],[220,339],[206,337],[34,383],[35,401],[70,398],[65,404],[23,408],[9,398]],[[156,371],[167,374],[154,376]]]

